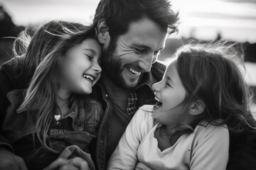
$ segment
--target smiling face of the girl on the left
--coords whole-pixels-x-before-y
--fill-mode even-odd
[[[58,93],[90,94],[100,79],[102,47],[93,38],[87,38],[58,57],[54,80],[60,84]]]

